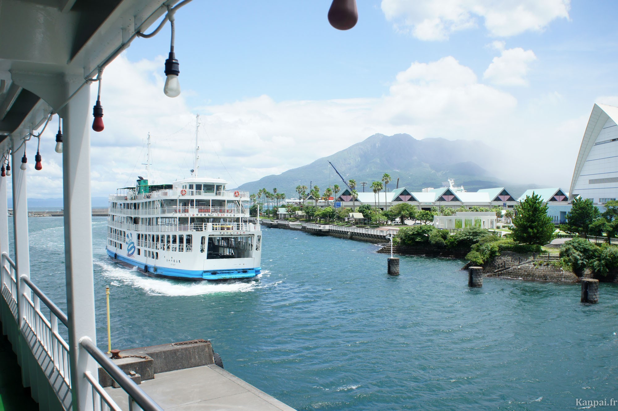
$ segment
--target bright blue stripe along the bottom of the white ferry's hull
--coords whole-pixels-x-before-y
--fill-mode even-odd
[[[106,251],[109,257],[134,265],[142,270],[148,265],[148,274],[155,276],[187,278],[190,280],[229,280],[233,278],[252,278],[261,273],[261,267],[239,270],[179,270],[178,268],[157,267],[156,265],[144,264],[124,255],[116,254],[109,249],[106,249]]]

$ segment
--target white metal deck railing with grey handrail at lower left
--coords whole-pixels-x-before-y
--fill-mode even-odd
[[[1,295],[8,305],[19,332],[44,370],[64,409],[71,408],[71,376],[69,344],[61,335],[59,325],[69,327],[69,319],[27,275],[19,275],[15,262],[6,252],[0,259]],[[20,293],[18,290],[21,290]],[[45,307],[41,310],[41,302]],[[49,312],[49,315],[46,313]],[[9,318],[10,319],[10,318]],[[7,318],[2,318],[3,322]],[[163,411],[128,375],[107,355],[96,347],[88,336],[80,339],[80,346],[103,368],[126,392],[130,409],[141,407],[143,411]],[[23,368],[23,364],[22,364]],[[90,383],[93,409],[96,411],[122,411],[89,371],[84,373]]]

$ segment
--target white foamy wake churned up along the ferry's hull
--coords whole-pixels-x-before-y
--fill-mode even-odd
[[[214,293],[245,293],[265,288],[267,284],[259,281],[182,281],[156,278],[144,275],[137,267],[127,268],[120,264],[98,261],[102,275],[111,279],[113,286],[132,286],[140,288],[151,296],[201,296]],[[258,277],[259,278],[259,277]]]

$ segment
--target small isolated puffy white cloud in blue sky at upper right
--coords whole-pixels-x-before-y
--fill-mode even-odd
[[[527,86],[525,78],[528,66],[536,60],[535,53],[522,48],[504,49],[504,42],[494,41],[493,47],[502,52],[500,57],[494,57],[489,64],[483,79],[499,86]]]

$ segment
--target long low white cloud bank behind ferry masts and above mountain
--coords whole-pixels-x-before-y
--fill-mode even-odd
[[[106,128],[91,131],[95,196],[133,185],[143,175],[149,131],[155,170],[151,178],[169,182],[187,177],[196,113],[203,124],[200,175],[224,178],[231,186],[300,167],[374,133],[483,141],[497,148],[494,159],[462,161],[493,170],[499,160],[502,165],[494,175],[509,181],[567,186],[585,127],[585,122],[563,127],[566,120],[559,108],[564,101],[559,96],[543,102],[541,115],[541,110],[522,107],[511,94],[481,83],[471,68],[451,56],[413,62],[397,73],[381,98],[277,102],[258,96],[196,108],[188,107],[182,94],[176,99],[164,96],[161,61],[132,63],[123,55],[105,71],[101,100]],[[190,85],[183,87],[184,93],[190,92]],[[43,171],[35,172],[30,164],[29,197],[62,196],[61,156],[53,152],[55,121],[41,140]],[[29,144],[29,158],[32,150]],[[547,156],[548,151],[556,156]]]

